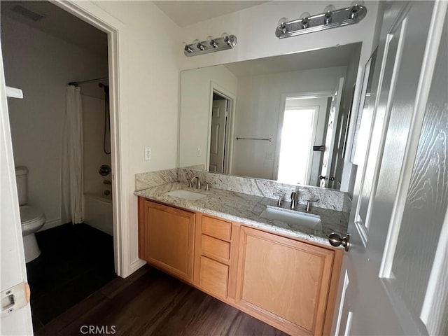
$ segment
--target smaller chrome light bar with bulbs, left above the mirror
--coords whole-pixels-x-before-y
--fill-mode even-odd
[[[232,49],[235,48],[235,45],[237,45],[237,36],[223,33],[221,37],[214,38],[209,36],[205,41],[195,40],[191,44],[184,43],[183,53],[187,57],[191,57]]]

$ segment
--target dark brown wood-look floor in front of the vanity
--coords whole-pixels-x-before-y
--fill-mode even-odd
[[[127,279],[114,279],[35,335],[86,335],[91,325],[97,328],[94,335],[286,336],[148,266]]]

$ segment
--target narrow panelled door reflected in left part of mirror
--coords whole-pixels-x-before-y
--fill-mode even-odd
[[[219,99],[211,108],[210,172],[223,173],[227,106],[227,99]]]

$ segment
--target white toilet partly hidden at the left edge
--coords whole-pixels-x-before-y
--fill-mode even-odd
[[[45,224],[45,214],[39,209],[27,205],[27,174],[27,167],[15,167],[25,262],[30,262],[41,254],[34,232],[40,230]]]

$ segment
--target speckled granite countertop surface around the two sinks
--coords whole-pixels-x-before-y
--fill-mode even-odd
[[[166,195],[169,191],[179,189],[194,191],[207,195],[207,197],[192,201]],[[330,246],[328,243],[328,235],[332,232],[345,235],[349,222],[349,213],[317,207],[311,207],[309,214],[321,216],[321,230],[314,230],[302,225],[291,225],[281,221],[272,221],[260,217],[260,214],[267,205],[276,206],[276,200],[215,188],[210,188],[207,191],[197,190],[188,188],[187,183],[181,182],[167,183],[162,186],[138,190],[134,192],[134,195],[176,207],[202,212],[203,214],[221,217],[271,232],[278,232],[282,235],[314,241],[326,246]],[[283,202],[282,207],[288,209],[288,205],[288,202]],[[305,212],[305,206],[298,204],[297,211]]]

